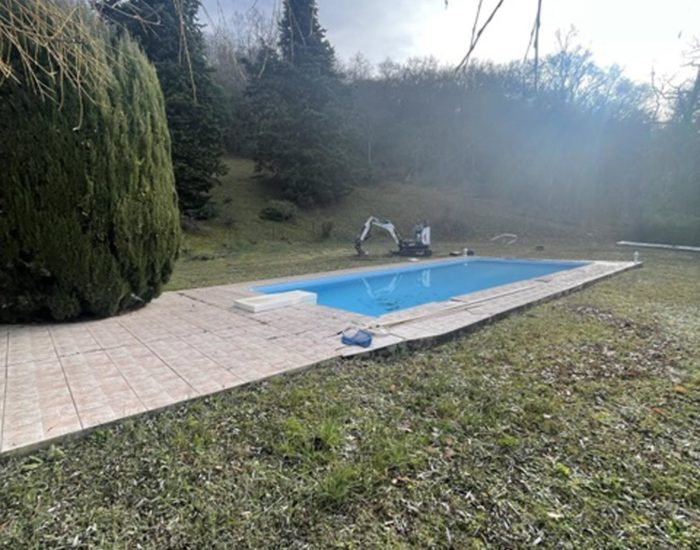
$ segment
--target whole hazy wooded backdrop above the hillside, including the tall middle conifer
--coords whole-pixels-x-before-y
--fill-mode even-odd
[[[308,36],[294,35],[294,10],[312,14]],[[233,113],[230,151],[253,157],[287,198],[329,202],[394,179],[628,237],[700,241],[698,79],[659,98],[596,65],[572,34],[539,60],[536,88],[531,62],[455,71],[357,56],[340,67],[309,0],[284,3],[276,36],[256,42],[259,28],[210,37],[214,78]],[[294,59],[294,40],[312,37],[315,49]]]

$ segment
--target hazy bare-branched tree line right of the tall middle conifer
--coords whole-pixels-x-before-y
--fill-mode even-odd
[[[697,81],[662,117],[650,86],[567,40],[541,60],[537,90],[531,73],[518,62],[455,74],[423,59],[353,78],[367,165],[377,178],[459,185],[526,214],[700,240]]]

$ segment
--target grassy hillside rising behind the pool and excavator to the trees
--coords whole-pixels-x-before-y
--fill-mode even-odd
[[[171,290],[351,267],[359,261],[386,263],[395,246],[381,231],[367,244],[369,257],[355,256],[355,236],[370,215],[389,218],[405,236],[414,223],[428,220],[437,254],[464,246],[503,254],[475,244],[503,232],[517,233],[521,242],[531,244],[592,242],[580,227],[528,218],[463,190],[398,182],[360,187],[336,206],[300,211],[293,223],[261,220],[267,201],[279,198],[275,190],[256,177],[251,161],[228,159],[227,165],[228,174],[214,190],[216,216],[187,233]],[[324,222],[333,224],[328,239],[321,236]]]

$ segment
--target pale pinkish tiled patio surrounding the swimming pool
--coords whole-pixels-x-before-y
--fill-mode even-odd
[[[0,326],[0,453],[366,353],[340,343],[349,326],[380,325],[369,351],[418,343],[635,265],[593,262],[379,318],[310,304],[264,313],[233,309],[234,300],[254,295],[249,283],[167,292],[142,310],[111,319]],[[346,270],[352,271],[358,270]]]

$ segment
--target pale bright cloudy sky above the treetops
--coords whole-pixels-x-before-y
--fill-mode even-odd
[[[498,0],[483,0],[482,18]],[[251,8],[271,13],[281,0],[203,0],[207,13],[233,16]],[[373,63],[432,55],[458,63],[468,49],[478,0],[317,0],[321,25],[338,57],[358,52]],[[497,62],[522,59],[535,18],[536,0],[504,0],[474,57]],[[206,18],[205,18],[206,20]],[[680,79],[692,69],[683,52],[700,40],[700,0],[543,0],[540,51],[556,49],[556,32],[571,27],[576,41],[603,66],[649,82]]]

